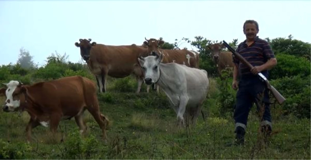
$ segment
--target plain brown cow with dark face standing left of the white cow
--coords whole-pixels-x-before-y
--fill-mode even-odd
[[[124,78],[131,74],[138,81],[137,93],[140,92],[143,83],[142,69],[137,58],[141,54],[148,55],[147,48],[143,46],[121,45],[112,46],[96,44],[91,39],[79,39],[75,46],[80,48],[81,57],[86,61],[89,69],[95,75],[100,93],[106,92],[107,75],[114,78]],[[149,87],[147,87],[148,92]]]

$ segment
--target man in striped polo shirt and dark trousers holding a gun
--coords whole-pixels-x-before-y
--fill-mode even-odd
[[[236,106],[234,109],[234,132],[236,133],[236,144],[244,144],[248,113],[253,103],[257,105],[257,109],[261,107],[262,102],[258,99],[258,95],[260,95],[263,91],[265,111],[263,113],[261,126],[262,130],[264,130],[263,132],[266,131],[266,134],[271,133],[272,130],[268,89],[265,83],[260,81],[256,74],[261,72],[263,75],[268,77],[268,70],[272,69],[272,67],[276,65],[277,61],[269,43],[258,38],[258,31],[259,28],[256,21],[245,21],[243,25],[243,32],[246,36],[246,40],[240,43],[237,48],[237,52],[239,52],[241,56],[254,67],[249,70],[246,65],[239,62],[237,58],[233,57],[235,66],[233,71],[232,88],[235,90],[239,88],[236,95]]]

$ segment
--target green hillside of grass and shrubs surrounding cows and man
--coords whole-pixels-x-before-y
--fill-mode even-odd
[[[269,40],[278,59],[269,80],[286,102],[282,106],[272,104],[273,134],[267,145],[258,132],[258,112],[254,106],[248,117],[245,145],[237,147],[226,146],[235,136],[236,91],[231,88],[230,70],[224,71],[225,79],[220,80],[209,51],[202,49],[206,43],[206,39],[200,38],[192,42],[202,56],[200,68],[208,71],[210,80],[203,105],[206,121],[200,114],[196,127],[176,128],[176,114],[163,91],[160,90],[159,95],[155,91],[147,94],[143,84],[141,93],[135,94],[137,81],[133,76],[109,77],[107,93],[98,93],[100,110],[111,121],[107,129],[108,144],[101,139],[100,128],[87,111],[85,136],[80,137],[72,119],[60,123],[57,141],[49,128],[38,126],[32,130],[34,142],[27,144],[25,128],[29,115],[0,110],[0,159],[309,159],[311,45],[291,38]],[[230,44],[236,47],[236,41]],[[67,62],[59,55],[48,57],[47,64],[41,67],[25,69],[18,63],[0,67],[1,83],[20,80],[32,84],[71,75],[95,82],[85,64]],[[0,97],[0,104],[4,101],[4,97]],[[271,101],[274,102],[274,98]]]

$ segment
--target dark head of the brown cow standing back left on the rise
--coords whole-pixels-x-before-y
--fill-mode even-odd
[[[75,46],[80,47],[81,57],[88,61],[90,59],[90,51],[92,47],[96,46],[96,42],[91,42],[92,39],[79,39],[80,43],[76,42]]]

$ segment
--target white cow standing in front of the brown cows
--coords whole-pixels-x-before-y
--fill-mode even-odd
[[[165,92],[177,114],[179,126],[184,125],[186,107],[187,117],[190,114],[192,124],[196,125],[209,89],[207,71],[177,63],[161,63],[162,58],[163,53],[145,58],[139,56],[138,62],[144,71],[146,84],[155,83]]]

